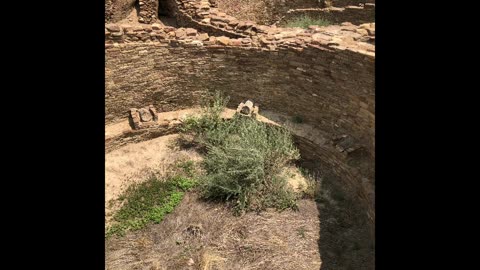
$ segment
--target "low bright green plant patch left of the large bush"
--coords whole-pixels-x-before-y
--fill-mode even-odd
[[[195,185],[196,181],[183,176],[162,181],[152,175],[145,182],[130,186],[119,197],[124,204],[113,216],[115,223],[108,228],[106,237],[123,236],[150,223],[159,223],[182,201],[185,192]]]

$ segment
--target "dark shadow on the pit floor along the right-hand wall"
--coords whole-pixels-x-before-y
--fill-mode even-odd
[[[303,160],[315,175],[319,212],[321,270],[375,269],[375,241],[365,210],[342,190],[338,176],[318,160]]]

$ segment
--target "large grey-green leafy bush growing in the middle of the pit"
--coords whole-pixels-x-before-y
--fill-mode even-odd
[[[295,195],[280,176],[300,156],[290,133],[241,115],[223,120],[220,113],[225,103],[212,104],[213,108],[184,125],[184,131],[195,133],[197,142],[207,149],[206,176],[200,182],[203,197],[231,200],[237,212],[295,207]]]

